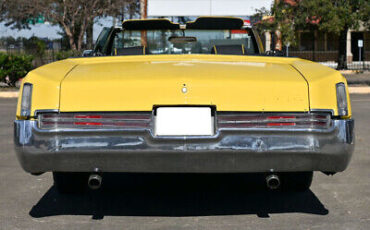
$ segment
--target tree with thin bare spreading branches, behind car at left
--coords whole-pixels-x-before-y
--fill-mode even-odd
[[[1,1],[1,0],[0,0]],[[71,49],[81,50],[86,30],[94,19],[116,16],[123,4],[133,0],[2,0],[6,25],[29,28],[30,18],[44,17],[59,25],[67,35]],[[91,28],[91,27],[90,27]]]

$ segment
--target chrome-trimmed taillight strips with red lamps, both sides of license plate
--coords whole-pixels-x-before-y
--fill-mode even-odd
[[[38,127],[49,131],[149,131],[152,112],[51,113],[38,112]],[[330,113],[216,112],[215,135],[221,131],[318,131],[332,127]],[[210,138],[210,137],[207,137]]]

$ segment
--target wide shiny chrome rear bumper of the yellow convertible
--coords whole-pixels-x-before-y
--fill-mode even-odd
[[[157,138],[150,131],[43,130],[14,122],[18,159],[27,172],[246,173],[346,169],[354,121],[326,130],[220,130],[205,138]]]

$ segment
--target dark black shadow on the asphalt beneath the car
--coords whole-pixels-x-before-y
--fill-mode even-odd
[[[312,191],[265,189],[262,175],[126,175],[103,177],[99,191],[62,195],[52,186],[32,207],[35,218],[56,215],[211,216],[272,213],[326,215]]]

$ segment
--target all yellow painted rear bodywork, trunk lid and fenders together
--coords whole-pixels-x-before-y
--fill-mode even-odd
[[[44,109],[150,111],[160,105],[251,112],[330,109],[337,114],[335,85],[346,80],[335,70],[297,58],[143,55],[68,59],[30,72],[23,82],[33,84],[31,114]]]

